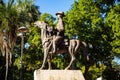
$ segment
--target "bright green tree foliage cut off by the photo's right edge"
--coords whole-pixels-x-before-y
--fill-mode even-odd
[[[111,28],[113,41],[112,51],[120,57],[120,4],[111,7],[106,18],[106,24]]]

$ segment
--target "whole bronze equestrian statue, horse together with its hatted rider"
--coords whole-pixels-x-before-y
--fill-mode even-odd
[[[43,63],[40,69],[43,69],[45,66],[46,60],[48,60],[48,69],[51,69],[51,55],[69,53],[71,56],[71,61],[69,65],[65,68],[69,69],[75,60],[75,54],[77,53],[80,46],[83,46],[84,59],[89,60],[87,56],[87,44],[78,39],[69,39],[64,36],[64,23],[62,18],[65,16],[64,12],[56,13],[58,17],[58,23],[56,29],[50,27],[45,21],[36,21],[35,26],[41,29],[41,40],[42,46],[44,49],[44,58]]]

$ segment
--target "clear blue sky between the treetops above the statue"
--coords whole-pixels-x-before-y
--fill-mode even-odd
[[[41,13],[49,13],[55,16],[58,11],[66,12],[71,8],[74,0],[35,0]]]

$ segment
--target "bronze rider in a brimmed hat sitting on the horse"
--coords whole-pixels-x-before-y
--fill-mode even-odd
[[[58,12],[56,13],[56,16],[58,18],[58,23],[56,27],[56,35],[53,38],[53,53],[56,52],[58,46],[64,41],[64,23],[62,18],[64,17],[64,12]]]

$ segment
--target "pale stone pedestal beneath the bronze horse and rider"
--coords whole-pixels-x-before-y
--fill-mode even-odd
[[[80,70],[35,70],[34,80],[85,80]]]

